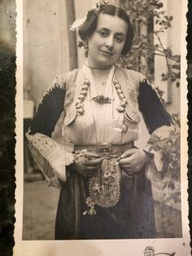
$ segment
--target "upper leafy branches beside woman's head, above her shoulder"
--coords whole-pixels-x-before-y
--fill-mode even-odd
[[[165,47],[162,41],[162,34],[171,28],[173,17],[162,10],[164,5],[160,0],[122,0],[121,4],[128,11],[131,20],[134,20],[136,37],[127,56],[130,67],[137,68],[153,81],[154,57],[160,55],[167,64],[167,73],[162,73],[162,80],[175,82],[180,78],[180,55],[173,54],[172,48]],[[158,43],[154,43],[154,38]]]

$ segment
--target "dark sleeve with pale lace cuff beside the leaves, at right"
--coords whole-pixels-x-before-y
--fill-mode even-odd
[[[150,139],[143,148],[151,154],[151,161],[146,166],[148,179],[159,180],[168,168],[168,144],[173,130],[172,118],[164,109],[154,86],[145,79],[139,82],[138,106],[150,133]]]

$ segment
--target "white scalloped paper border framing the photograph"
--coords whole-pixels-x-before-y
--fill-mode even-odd
[[[87,241],[23,241],[23,1],[16,0],[17,18],[17,47],[16,47],[16,148],[15,148],[15,247],[14,256],[142,256],[147,246],[152,246],[155,253],[164,255],[175,253],[178,256],[190,255],[190,229],[188,220],[188,181],[187,181],[187,82],[186,82],[186,12],[187,0],[182,1],[182,29],[181,29],[181,213],[182,238],[173,239],[145,239],[145,240],[87,240]],[[164,253],[164,254],[163,254]]]

